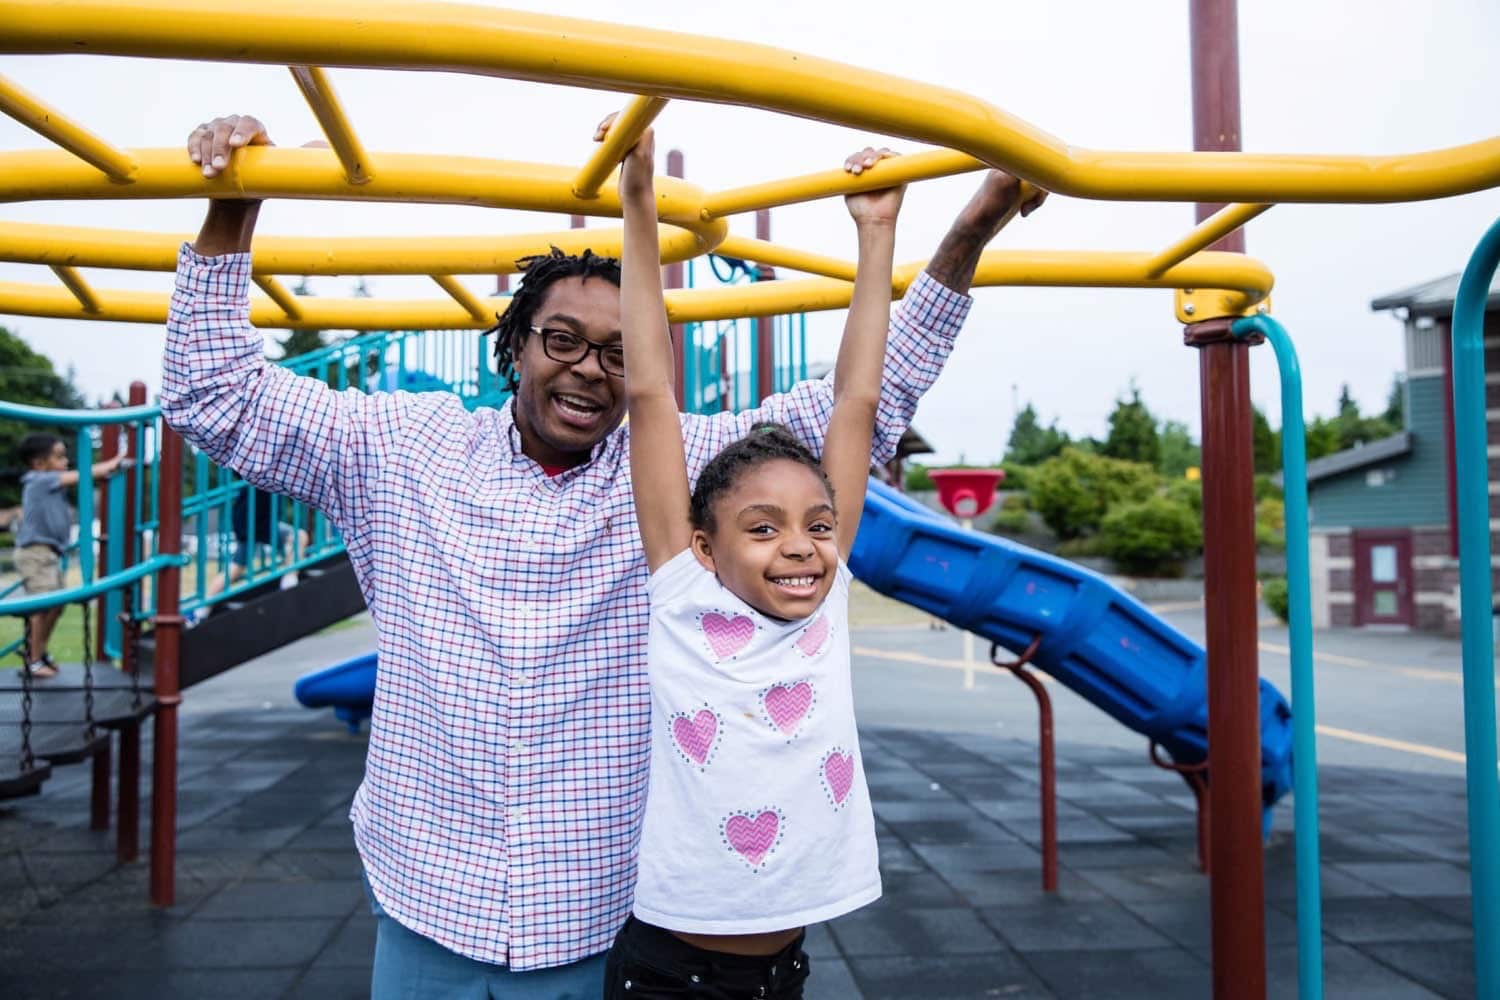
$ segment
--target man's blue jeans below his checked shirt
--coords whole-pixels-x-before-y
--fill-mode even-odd
[[[366,892],[369,888],[366,886]],[[572,966],[512,972],[465,958],[432,939],[408,931],[375,903],[375,970],[370,1000],[598,1000],[604,993],[604,955]]]

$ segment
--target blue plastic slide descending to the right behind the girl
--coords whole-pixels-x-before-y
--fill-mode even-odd
[[[1178,763],[1208,757],[1208,655],[1144,604],[1080,565],[963,531],[870,481],[849,565],[886,597],[1024,651],[1032,663]],[[1292,789],[1292,708],[1260,682],[1262,798]]]

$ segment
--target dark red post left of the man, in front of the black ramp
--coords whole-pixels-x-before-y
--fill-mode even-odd
[[[158,475],[158,552],[182,550],[183,439],[162,426]],[[182,570],[170,565],[156,586],[156,750],[152,754],[152,903],[171,906],[176,898],[177,853],[177,655],[183,618],[177,613]]]

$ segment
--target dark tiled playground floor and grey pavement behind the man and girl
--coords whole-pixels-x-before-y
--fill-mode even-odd
[[[958,643],[920,616],[854,630],[885,898],[813,928],[808,1000],[1209,996],[1209,886],[1188,789],[1146,762],[1140,738],[1053,687],[1062,885],[1048,897],[1035,708],[1004,675],[963,690]],[[1330,709],[1344,694],[1368,697],[1371,678],[1426,684],[1419,670],[1458,663],[1456,642],[1431,637],[1318,643],[1350,663],[1394,657],[1412,673],[1330,667],[1320,678]],[[144,903],[144,861],[117,867],[112,832],[87,829],[87,769],[0,804],[0,996],[366,996],[374,921],[346,820],[364,739],[332,712],[297,708],[291,682],[370,645],[369,625],[356,624],[189,691],[171,909]],[[1275,676],[1274,654],[1263,660]],[[1448,697],[1449,687],[1432,690]],[[1386,711],[1426,709],[1408,699]],[[1328,996],[1473,996],[1462,766],[1348,741],[1330,750]],[[1288,799],[1266,852],[1278,999],[1296,996],[1290,826]]]

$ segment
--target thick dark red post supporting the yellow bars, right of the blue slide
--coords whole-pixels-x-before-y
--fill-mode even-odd
[[[1192,148],[1239,150],[1236,0],[1191,0]],[[1203,220],[1220,205],[1197,205]],[[1244,231],[1214,244],[1245,250]],[[1260,840],[1260,669],[1250,345],[1228,321],[1188,327],[1203,412],[1203,591],[1208,595],[1209,826],[1214,997],[1266,996]]]

